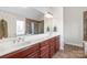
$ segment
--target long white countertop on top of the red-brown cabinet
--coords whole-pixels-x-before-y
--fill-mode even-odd
[[[20,48],[36,44],[39,42],[43,42],[45,40],[48,40],[53,36],[57,36],[59,34],[36,34],[36,35],[26,35],[26,36],[22,36],[24,39],[24,42],[21,41],[20,43],[18,43],[17,41],[14,41],[15,43],[13,43],[13,37],[9,41],[6,40],[4,42],[0,41],[0,56],[6,55],[8,53],[11,53],[13,51],[18,51]],[[17,37],[18,39],[18,37]]]

